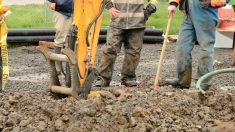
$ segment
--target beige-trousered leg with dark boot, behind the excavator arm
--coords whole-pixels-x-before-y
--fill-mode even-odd
[[[54,13],[54,23],[55,23],[55,53],[60,54],[61,48],[63,48],[65,44],[66,37],[69,33],[70,27],[72,25],[72,17],[68,18],[61,13],[55,11]],[[62,62],[56,61],[56,69],[58,74],[62,71]]]

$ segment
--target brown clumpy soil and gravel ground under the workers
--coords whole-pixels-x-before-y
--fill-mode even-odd
[[[175,76],[175,44],[167,49],[162,80]],[[193,51],[193,77],[197,50],[198,46]],[[152,89],[160,52],[160,44],[144,45],[137,69],[140,85],[135,88],[119,86],[124,57],[120,53],[113,87],[101,89],[101,97],[78,101],[48,92],[47,63],[34,46],[10,48],[10,77],[6,92],[0,94],[0,131],[235,131],[235,88],[228,87],[235,85],[235,74],[214,77],[205,96],[194,85],[189,90]],[[216,49],[214,58],[221,63],[215,69],[232,67],[232,52]]]

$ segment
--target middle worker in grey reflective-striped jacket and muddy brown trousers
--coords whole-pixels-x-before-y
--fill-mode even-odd
[[[111,22],[107,31],[107,42],[102,47],[97,68],[96,87],[107,87],[112,79],[114,63],[124,43],[125,57],[121,71],[121,84],[137,86],[135,70],[139,63],[143,44],[145,22],[156,12],[156,0],[112,0],[106,4]]]

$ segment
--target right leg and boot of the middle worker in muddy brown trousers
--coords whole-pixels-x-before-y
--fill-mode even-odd
[[[122,84],[136,86],[135,70],[139,64],[143,45],[144,28],[129,29],[125,32],[125,57],[122,65]]]

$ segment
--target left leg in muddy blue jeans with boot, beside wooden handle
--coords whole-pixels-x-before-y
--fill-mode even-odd
[[[176,85],[189,88],[192,77],[192,49],[195,45],[196,35],[190,18],[185,18],[180,27],[180,33],[177,40],[176,58],[177,58],[177,78],[167,79],[169,85]]]

